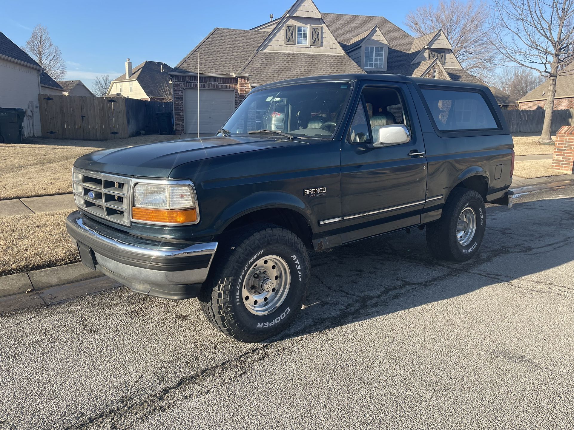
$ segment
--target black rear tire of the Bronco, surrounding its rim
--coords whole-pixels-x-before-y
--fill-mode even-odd
[[[457,239],[459,216],[466,208],[475,214],[476,230],[467,244]],[[455,188],[449,194],[439,220],[426,225],[426,243],[430,252],[443,260],[467,261],[476,255],[486,229],[486,208],[482,196],[474,190]]]

